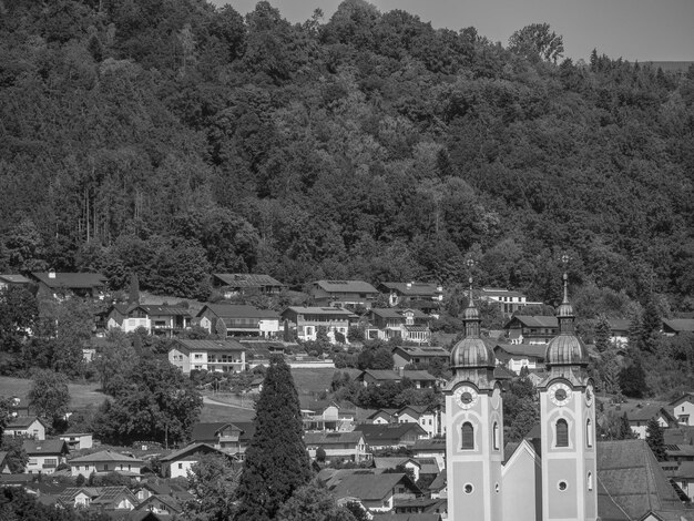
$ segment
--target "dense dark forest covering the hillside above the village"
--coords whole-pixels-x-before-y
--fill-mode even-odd
[[[519,30],[522,28],[519,28]],[[544,34],[547,35],[547,34]],[[694,308],[694,70],[345,1],[0,3],[0,272],[574,283]],[[557,43],[557,39],[553,40]]]

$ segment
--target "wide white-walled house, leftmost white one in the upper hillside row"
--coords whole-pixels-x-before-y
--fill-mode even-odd
[[[192,319],[188,309],[182,306],[115,304],[106,315],[106,327],[121,329],[125,333],[142,327],[150,335],[173,338],[178,333],[190,328]]]

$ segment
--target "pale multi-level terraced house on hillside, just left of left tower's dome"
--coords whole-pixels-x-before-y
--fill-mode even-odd
[[[369,326],[365,330],[368,339],[397,338],[417,344],[426,344],[431,339],[431,317],[419,309],[372,308],[368,317]]]

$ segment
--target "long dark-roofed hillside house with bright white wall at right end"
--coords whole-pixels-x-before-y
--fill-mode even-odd
[[[269,309],[233,304],[205,304],[197,313],[200,326],[214,334],[222,320],[229,336],[274,338],[280,333],[279,315]]]

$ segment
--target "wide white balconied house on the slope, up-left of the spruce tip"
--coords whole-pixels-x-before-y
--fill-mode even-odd
[[[242,372],[246,367],[246,349],[236,340],[176,339],[169,349],[169,361],[190,375],[192,370]]]

